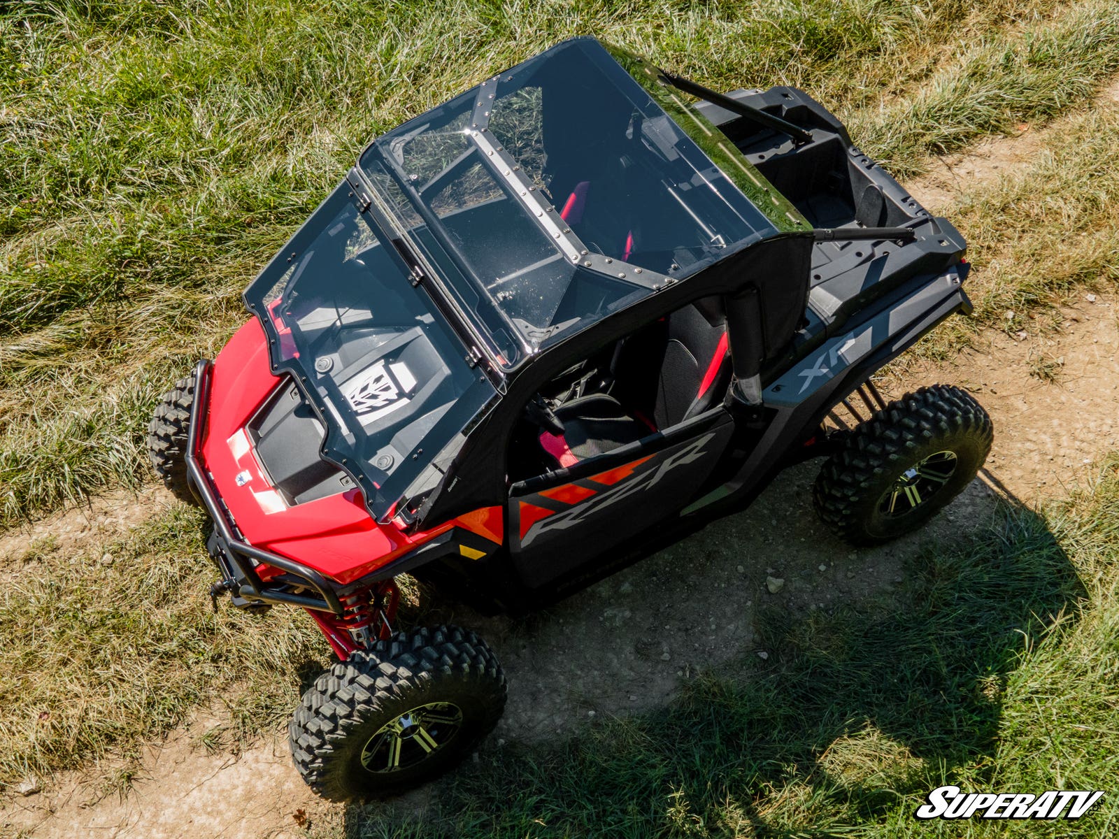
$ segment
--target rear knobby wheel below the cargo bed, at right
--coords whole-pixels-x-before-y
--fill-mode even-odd
[[[990,417],[966,390],[922,387],[852,431],[820,469],[816,511],[853,545],[888,541],[962,492],[993,439]]]

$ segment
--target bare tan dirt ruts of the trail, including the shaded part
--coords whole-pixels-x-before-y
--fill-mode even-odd
[[[1119,98],[1119,86],[1108,94]],[[963,180],[993,180],[1028,159],[1028,131],[980,143],[910,185],[947,210]],[[961,180],[962,179],[962,180]],[[951,364],[911,362],[892,390],[944,381],[971,389],[990,412],[996,442],[989,478],[1025,503],[1064,493],[1092,474],[1101,452],[1119,447],[1119,321],[1116,300],[1083,296],[1064,310],[1059,331],[1006,336],[987,331]],[[1054,380],[1046,380],[1053,377]],[[592,586],[525,623],[449,611],[479,630],[509,677],[507,713],[483,748],[566,735],[596,719],[664,705],[683,680],[753,651],[761,605],[803,614],[878,595],[905,583],[905,559],[931,540],[950,540],[982,524],[995,491],[976,481],[929,527],[886,547],[853,550],[811,510],[816,464],[783,473],[745,512],[715,522],[657,556]],[[125,505],[122,508],[122,502]],[[29,539],[57,534],[91,545],[166,509],[162,490],[94,501],[22,531],[0,536],[0,560]],[[112,516],[106,513],[112,512]],[[66,528],[69,527],[69,530]],[[0,571],[6,563],[0,562]],[[784,581],[777,593],[767,576]],[[669,610],[666,604],[671,603]],[[291,767],[282,733],[238,756],[209,754],[191,741],[205,724],[149,747],[143,771],[121,800],[96,800],[104,767],[50,780],[41,793],[0,795],[0,837],[303,836],[303,819],[340,823],[341,808],[309,794]],[[427,792],[403,807],[422,807]]]

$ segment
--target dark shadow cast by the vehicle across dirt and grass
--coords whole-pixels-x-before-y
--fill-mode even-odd
[[[985,479],[949,508],[951,520],[892,548],[850,552],[806,522],[803,537],[786,532],[778,549],[758,553],[758,528],[774,509],[805,511],[784,483],[768,502],[600,584],[605,596],[591,590],[519,624],[455,615],[511,662],[511,714],[449,780],[351,808],[347,836],[812,835],[873,819],[897,795],[923,795],[953,767],[991,757],[1022,650],[1062,618],[1075,620],[1084,588],[1045,518]],[[730,594],[721,587],[727,548],[761,557],[750,572],[731,566],[747,582]],[[684,566],[685,557],[703,559]],[[773,573],[762,573],[765,563]],[[839,590],[837,579],[866,584],[861,574],[872,585]],[[784,579],[778,593],[767,577]],[[685,578],[704,592],[706,612]],[[631,618],[610,626],[600,619],[627,584],[639,595],[626,601]],[[669,603],[685,604],[700,634],[736,611],[739,630],[717,637],[728,649],[677,657],[699,635],[670,629]],[[669,629],[642,654],[630,624]],[[619,651],[631,641],[632,656]],[[652,696],[619,698],[650,686]],[[527,735],[517,733],[525,725]],[[771,805],[789,795],[803,802]],[[800,813],[796,823],[789,812]]]

